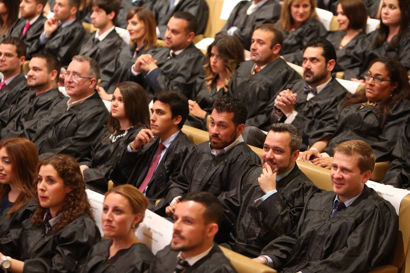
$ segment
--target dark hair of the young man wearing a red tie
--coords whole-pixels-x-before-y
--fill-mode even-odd
[[[178,124],[178,127],[182,128],[182,126],[184,126],[185,120],[187,120],[187,117],[189,115],[189,105],[187,97],[185,97],[184,94],[176,91],[162,91],[154,95],[153,102],[155,102],[156,100],[169,105],[173,118],[179,115],[182,117],[180,123]]]

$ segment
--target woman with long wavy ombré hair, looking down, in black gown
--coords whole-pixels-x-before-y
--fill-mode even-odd
[[[189,99],[189,117],[186,124],[207,131],[207,116],[214,101],[228,92],[232,75],[245,60],[244,47],[236,36],[221,36],[208,46],[204,65],[205,79],[198,78],[195,101]]]

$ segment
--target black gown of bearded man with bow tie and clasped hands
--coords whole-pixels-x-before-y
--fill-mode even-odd
[[[328,121],[333,120],[337,105],[348,94],[346,88],[335,78],[332,78],[318,95],[307,101],[307,94],[303,93],[304,84],[303,79],[289,83],[289,89],[298,94],[295,104],[298,115],[296,115],[292,124],[296,126],[302,135],[302,151],[307,150],[307,146],[312,146],[314,142],[320,140],[321,136],[313,138],[312,133],[323,128]],[[266,110],[271,113],[271,122],[285,122],[286,115],[282,115],[279,121],[275,118],[273,107],[275,98],[276,96],[272,98]],[[269,128],[266,127],[265,130],[269,131]]]

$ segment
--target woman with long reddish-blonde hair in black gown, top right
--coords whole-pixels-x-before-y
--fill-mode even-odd
[[[326,35],[327,31],[316,14],[315,0],[283,1],[276,25],[282,30],[283,43],[280,54],[286,61],[297,64],[302,60],[303,48],[313,38]]]

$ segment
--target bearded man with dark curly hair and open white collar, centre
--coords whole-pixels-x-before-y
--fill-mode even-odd
[[[246,108],[238,99],[221,97],[215,100],[209,124],[210,142],[203,142],[189,153],[178,176],[156,212],[172,215],[177,199],[187,192],[206,191],[219,196],[236,189],[241,174],[248,166],[260,162],[257,154],[242,138]]]

